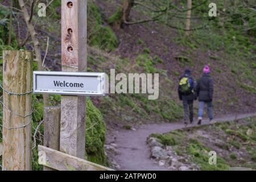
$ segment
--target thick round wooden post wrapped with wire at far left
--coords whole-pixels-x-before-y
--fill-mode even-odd
[[[31,51],[3,51],[3,169],[31,170]]]

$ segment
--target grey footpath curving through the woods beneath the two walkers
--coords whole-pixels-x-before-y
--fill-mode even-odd
[[[256,116],[256,113],[238,114],[237,119],[252,116]],[[235,115],[224,115],[216,118],[216,121],[225,122],[234,119]],[[203,121],[203,125],[209,125],[209,122]],[[196,123],[190,126],[196,126]],[[154,163],[154,160],[150,159],[150,148],[146,144],[146,139],[152,133],[167,133],[168,131],[182,128],[184,128],[184,124],[176,122],[142,125],[135,131],[114,131],[114,143],[117,145],[119,154],[112,157],[119,164],[120,170],[167,170],[164,167],[158,166]]]

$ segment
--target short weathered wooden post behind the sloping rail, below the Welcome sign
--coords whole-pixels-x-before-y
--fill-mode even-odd
[[[44,107],[44,146],[60,150],[60,107]],[[44,166],[44,171],[55,171]]]

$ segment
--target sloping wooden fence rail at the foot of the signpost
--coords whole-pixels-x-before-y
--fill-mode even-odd
[[[58,171],[114,171],[44,146],[38,146],[39,164]]]

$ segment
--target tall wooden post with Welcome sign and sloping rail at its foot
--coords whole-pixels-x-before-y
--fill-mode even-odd
[[[105,73],[85,73],[87,61],[86,0],[61,0],[63,72],[34,72],[34,92],[62,94],[59,150],[38,146],[45,170],[112,170],[84,160],[85,97],[105,95]],[[55,140],[55,142],[58,142]]]

